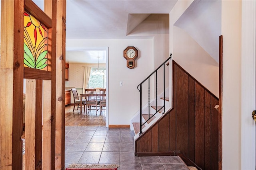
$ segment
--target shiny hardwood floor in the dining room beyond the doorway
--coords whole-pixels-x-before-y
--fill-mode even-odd
[[[80,110],[74,110],[73,105],[68,105],[65,107],[65,125],[66,126],[79,126],[79,125],[94,125],[94,126],[106,126],[106,110],[98,110],[97,115],[96,111],[87,111],[87,115]]]

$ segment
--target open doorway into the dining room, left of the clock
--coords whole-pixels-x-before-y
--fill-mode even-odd
[[[82,114],[80,109],[73,111],[74,99],[71,92],[70,105],[65,107],[65,125],[103,125],[108,127],[108,47],[67,48],[66,63],[69,64],[69,71],[65,89],[76,88],[78,96],[83,94],[87,88],[106,89],[106,107],[103,107],[106,110],[87,110],[86,113],[82,109]],[[89,67],[90,75],[85,74],[84,67]],[[96,74],[97,70],[101,74]]]

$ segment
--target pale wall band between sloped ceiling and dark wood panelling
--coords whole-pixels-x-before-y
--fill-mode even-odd
[[[186,33],[173,27],[173,59],[215,96],[219,96],[219,64]]]

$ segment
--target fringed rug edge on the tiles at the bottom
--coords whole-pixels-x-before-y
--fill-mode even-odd
[[[117,164],[70,164],[66,170],[117,170]]]

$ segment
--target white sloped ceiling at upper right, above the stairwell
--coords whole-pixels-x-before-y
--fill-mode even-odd
[[[219,62],[221,0],[195,0],[174,24]]]

